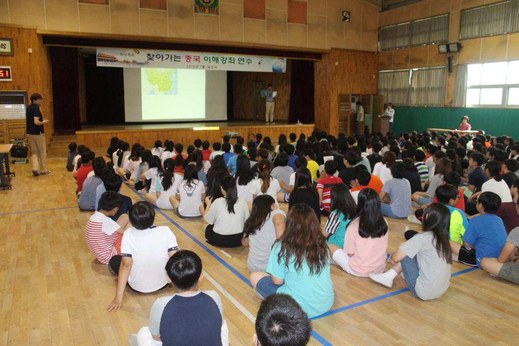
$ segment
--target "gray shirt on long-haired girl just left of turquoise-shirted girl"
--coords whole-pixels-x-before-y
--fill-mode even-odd
[[[249,258],[247,268],[250,272],[264,272],[267,270],[270,250],[276,241],[276,228],[274,227],[274,216],[286,214],[281,209],[272,210],[263,224],[263,227],[256,230],[256,233],[249,236]]]

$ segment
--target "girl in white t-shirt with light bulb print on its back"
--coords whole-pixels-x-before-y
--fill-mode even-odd
[[[198,180],[195,165],[187,165],[184,169],[184,179],[176,188],[176,194],[169,197],[171,205],[176,214],[183,219],[199,218],[204,212],[203,201],[205,198],[206,187]]]

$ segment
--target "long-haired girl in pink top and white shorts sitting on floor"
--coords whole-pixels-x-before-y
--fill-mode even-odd
[[[328,244],[333,264],[354,276],[367,277],[386,269],[388,224],[380,209],[380,198],[373,189],[359,192],[357,216],[346,229],[344,249]]]

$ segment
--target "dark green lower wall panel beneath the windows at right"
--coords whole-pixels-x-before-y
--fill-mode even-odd
[[[395,107],[393,132],[423,131],[427,128],[458,128],[468,115],[473,130],[493,136],[519,138],[519,109]]]

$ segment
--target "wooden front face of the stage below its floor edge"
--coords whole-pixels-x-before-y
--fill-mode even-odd
[[[192,145],[194,140],[200,138],[208,140],[211,143],[221,142],[222,135],[227,131],[238,131],[239,135],[247,141],[249,134],[261,133],[263,137],[270,137],[272,142],[277,142],[280,134],[289,135],[295,132],[297,136],[304,133],[307,136],[311,134],[314,126],[309,125],[279,125],[279,126],[226,126],[220,127],[218,130],[200,130],[194,131],[190,129],[155,129],[155,130],[104,130],[104,131],[77,131],[77,143],[84,144],[92,150],[106,150],[110,144],[110,139],[114,136],[124,140],[130,145],[140,143],[145,148],[152,148],[157,139],[164,142],[171,139],[175,143],[184,144],[184,151],[188,145]],[[97,155],[101,155],[98,152]]]

